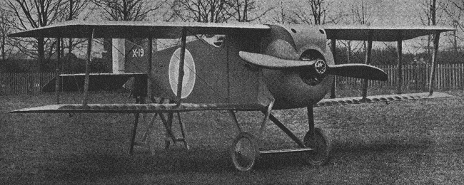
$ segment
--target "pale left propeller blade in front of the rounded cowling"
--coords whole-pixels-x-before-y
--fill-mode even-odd
[[[238,56],[240,56],[243,60],[246,60],[248,63],[253,63],[254,65],[259,65],[262,68],[269,69],[298,68],[302,66],[311,66],[316,62],[316,60],[286,60],[259,53],[249,53],[246,51],[238,52]]]

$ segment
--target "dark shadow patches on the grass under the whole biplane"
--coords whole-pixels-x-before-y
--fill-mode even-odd
[[[428,140],[415,144],[392,142],[353,145],[350,143],[335,143],[333,160],[369,159],[373,156],[378,160],[395,158],[398,153],[415,154],[430,147]],[[260,156],[254,171],[278,170],[286,168],[303,168],[308,164],[305,154],[271,154]],[[347,158],[347,159],[340,159]],[[186,152],[181,148],[158,149],[156,154],[142,152],[133,156],[112,154],[86,154],[54,159],[59,165],[44,166],[46,179],[79,181],[101,179],[121,175],[142,174],[173,174],[173,173],[211,173],[221,174],[236,171],[231,164],[226,149],[213,147],[191,149]],[[328,165],[331,165],[329,162]]]

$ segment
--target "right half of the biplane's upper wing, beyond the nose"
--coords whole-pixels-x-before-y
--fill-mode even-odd
[[[404,41],[418,36],[455,31],[444,26],[325,26],[328,39],[352,41]]]

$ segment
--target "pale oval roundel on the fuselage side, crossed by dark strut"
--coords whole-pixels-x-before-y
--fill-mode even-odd
[[[179,62],[181,58],[181,48],[177,48],[171,56],[169,62],[169,85],[174,95],[177,95],[177,84],[178,84],[178,73],[179,73]],[[183,79],[182,79],[182,95],[181,98],[186,98],[192,93],[193,86],[195,86],[195,62],[193,56],[186,49],[186,53],[183,60]]]

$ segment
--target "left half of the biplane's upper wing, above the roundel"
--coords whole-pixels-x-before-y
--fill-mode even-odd
[[[196,34],[262,34],[269,26],[250,23],[142,22],[142,21],[64,21],[50,26],[13,33],[13,37],[44,38],[180,38]]]

